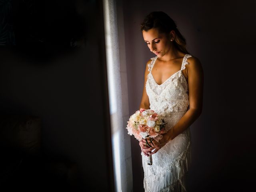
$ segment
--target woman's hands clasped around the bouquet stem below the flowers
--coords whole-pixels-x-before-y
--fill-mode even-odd
[[[147,140],[148,143],[152,146],[152,147],[150,147],[150,148],[143,149],[144,152],[146,152],[146,153],[149,154],[149,155],[155,154],[156,152],[158,152],[158,150],[160,150],[160,148],[162,148],[163,146],[165,146],[165,144],[168,143],[168,142],[171,140],[168,133],[162,134],[162,136],[163,136],[163,137],[162,137],[162,139],[159,140],[159,142],[157,142],[157,141],[154,140],[154,139],[152,140],[152,138],[151,138],[152,143],[153,143],[154,145],[150,142],[150,138],[142,139],[143,145],[147,145],[147,146],[148,146],[148,144],[146,143],[146,140]],[[154,149],[155,149],[155,150],[154,150]],[[154,150],[154,151],[152,152],[152,150]]]

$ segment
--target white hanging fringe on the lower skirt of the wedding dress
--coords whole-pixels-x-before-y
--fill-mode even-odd
[[[144,154],[143,154],[144,155]],[[146,161],[142,162],[144,170],[149,172]],[[154,162],[153,162],[154,163]],[[183,153],[172,163],[168,170],[165,170],[160,175],[152,175],[145,178],[144,174],[144,189],[145,192],[186,192],[185,173],[188,171],[191,163],[191,148],[190,142]]]

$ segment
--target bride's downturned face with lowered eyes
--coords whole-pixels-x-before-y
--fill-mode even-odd
[[[169,52],[171,47],[170,39],[167,38],[166,34],[159,33],[158,29],[152,28],[148,31],[143,30],[142,35],[148,48],[151,52],[156,54],[158,57],[164,56]]]

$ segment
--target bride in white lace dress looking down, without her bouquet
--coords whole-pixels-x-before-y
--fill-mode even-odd
[[[156,54],[146,63],[140,108],[164,116],[167,133],[154,146],[139,142],[146,192],[186,191],[185,174],[191,159],[190,125],[202,112],[203,70],[186,50],[186,40],[164,12],[151,12],[141,31]],[[150,141],[148,141],[150,142]],[[152,155],[152,165],[146,156]]]

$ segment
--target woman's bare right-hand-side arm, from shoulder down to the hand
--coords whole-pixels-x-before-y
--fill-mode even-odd
[[[198,58],[188,58],[188,89],[189,89],[189,109],[180,118],[177,124],[170,129],[166,134],[163,134],[163,138],[159,142],[152,141],[154,144],[154,152],[151,152],[154,148],[144,148],[144,152],[149,155],[156,153],[166,143],[173,140],[176,136],[186,130],[201,114],[202,102],[203,102],[203,84],[204,74],[200,61]],[[146,145],[146,141],[142,140],[142,146]]]

